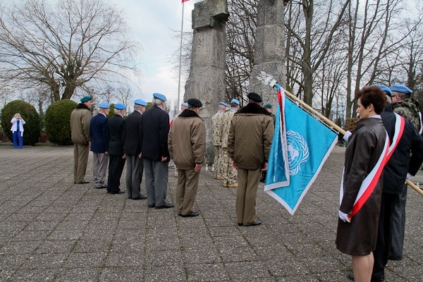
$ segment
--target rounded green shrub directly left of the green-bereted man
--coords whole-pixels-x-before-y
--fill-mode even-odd
[[[71,113],[78,104],[71,100],[60,100],[46,111],[46,133],[49,142],[56,145],[72,145]]]

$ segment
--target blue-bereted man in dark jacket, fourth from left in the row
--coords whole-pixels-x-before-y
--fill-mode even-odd
[[[143,200],[147,199],[140,193],[142,181],[142,171],[144,164],[141,159],[141,122],[142,113],[145,112],[147,103],[142,99],[134,101],[134,111],[125,118],[125,144],[123,152],[126,156],[126,191],[128,199]]]

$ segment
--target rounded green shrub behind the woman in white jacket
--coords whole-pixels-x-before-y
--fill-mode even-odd
[[[16,113],[19,113],[26,122],[23,125],[23,145],[35,145],[39,140],[40,133],[39,116],[34,106],[22,100],[9,102],[1,110],[1,127],[6,133],[8,140],[13,140],[11,119]]]

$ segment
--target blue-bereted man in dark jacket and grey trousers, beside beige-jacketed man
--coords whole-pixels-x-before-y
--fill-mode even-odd
[[[168,151],[169,116],[164,111],[166,97],[164,94],[153,94],[153,107],[142,115],[141,153],[144,161],[145,188],[147,190],[148,207],[167,209],[173,204],[166,202],[168,183]]]

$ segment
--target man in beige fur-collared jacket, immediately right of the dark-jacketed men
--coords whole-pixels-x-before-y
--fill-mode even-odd
[[[198,180],[206,154],[206,127],[200,116],[202,103],[198,99],[188,100],[188,109],[173,121],[168,134],[168,149],[178,168],[176,185],[176,208],[178,215],[198,216],[192,206],[197,195]]]

